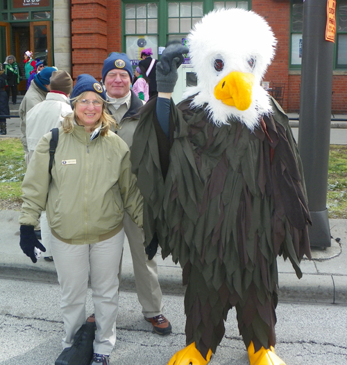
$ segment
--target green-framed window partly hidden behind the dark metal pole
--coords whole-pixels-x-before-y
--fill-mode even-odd
[[[347,69],[347,0],[337,3],[334,69]],[[303,51],[303,0],[291,1],[291,69],[301,69]]]

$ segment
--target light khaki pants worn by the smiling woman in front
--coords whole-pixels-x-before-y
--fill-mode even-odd
[[[86,320],[88,278],[92,285],[96,336],[94,353],[110,355],[116,343],[118,313],[118,270],[124,244],[124,229],[109,240],[94,244],[67,244],[52,236],[51,251],[62,292],[62,319],[70,347]],[[89,313],[90,314],[90,313]]]

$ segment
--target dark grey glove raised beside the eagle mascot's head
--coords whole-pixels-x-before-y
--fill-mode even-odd
[[[164,49],[156,69],[159,92],[172,93],[174,91],[178,79],[177,69],[185,60],[183,53],[188,53],[188,48],[180,43],[172,43]]]

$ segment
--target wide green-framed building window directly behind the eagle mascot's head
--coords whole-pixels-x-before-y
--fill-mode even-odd
[[[169,41],[178,40],[185,44],[185,39],[194,24],[211,10],[220,8],[250,10],[251,2],[251,0],[155,0],[153,3],[146,3],[144,0],[123,0],[122,49],[129,55],[133,65],[138,64],[143,48],[151,47],[153,57],[157,58],[158,46],[162,51]]]

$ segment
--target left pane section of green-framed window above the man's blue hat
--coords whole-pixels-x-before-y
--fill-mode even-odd
[[[144,48],[152,48],[158,57],[158,3],[125,4],[126,54],[138,64]]]

